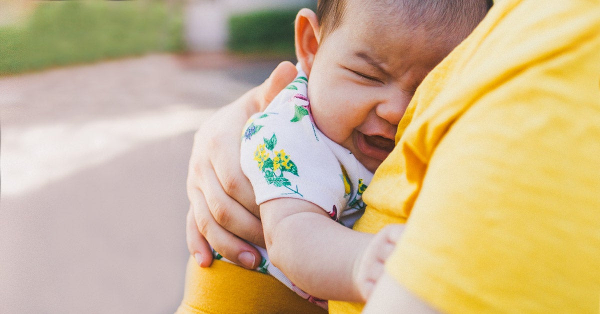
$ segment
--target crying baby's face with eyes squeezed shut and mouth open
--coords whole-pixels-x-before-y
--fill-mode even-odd
[[[375,171],[394,148],[415,89],[452,47],[406,31],[385,8],[364,10],[352,2],[319,45],[308,98],[319,129]]]

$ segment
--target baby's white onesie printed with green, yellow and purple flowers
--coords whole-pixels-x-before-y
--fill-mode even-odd
[[[346,148],[325,136],[314,124],[307,97],[307,76],[298,76],[244,127],[241,165],[256,194],[256,203],[298,198],[323,208],[332,219],[352,225],[362,215],[362,192],[373,174]],[[336,121],[320,121],[336,123]],[[290,289],[320,306],[271,265],[266,250],[259,271],[271,274]]]

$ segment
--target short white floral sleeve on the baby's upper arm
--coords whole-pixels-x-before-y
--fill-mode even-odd
[[[278,97],[248,121],[242,137],[242,170],[256,203],[304,199],[335,218],[346,202],[340,163],[314,127],[307,98],[289,91]]]

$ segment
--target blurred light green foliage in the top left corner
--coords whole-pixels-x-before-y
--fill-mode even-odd
[[[179,7],[154,1],[46,1],[0,27],[0,74],[184,49]]]

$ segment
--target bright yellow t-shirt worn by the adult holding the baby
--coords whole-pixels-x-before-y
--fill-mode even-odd
[[[599,84],[599,1],[497,2],[419,86],[355,229],[408,219],[386,271],[442,312],[598,313]]]

